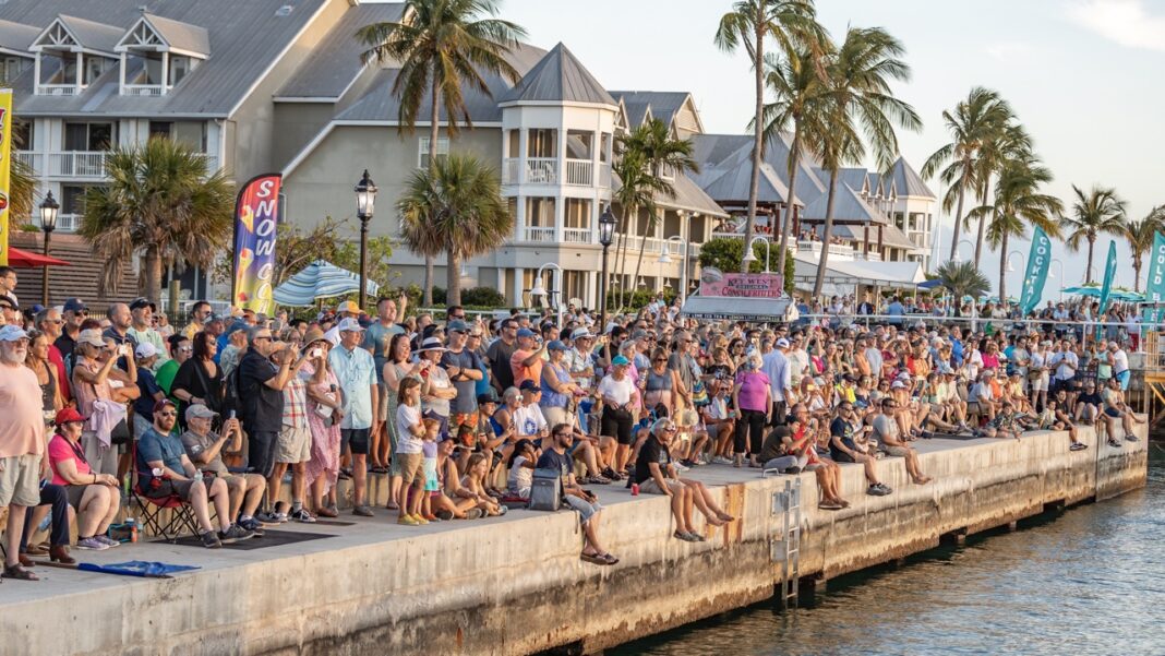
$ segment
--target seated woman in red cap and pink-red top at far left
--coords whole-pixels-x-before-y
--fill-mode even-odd
[[[93,472],[80,445],[85,417],[73,408],[57,412],[57,435],[49,440],[52,485],[65,486],[69,503],[77,509],[77,549],[100,551],[118,546],[105,531],[118,514],[121,495],[118,479]]]

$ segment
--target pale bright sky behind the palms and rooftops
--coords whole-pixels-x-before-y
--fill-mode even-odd
[[[527,29],[529,41],[562,41],[608,90],[689,91],[707,132],[743,133],[754,104],[753,72],[743,52],[725,54],[712,41],[729,0],[500,0],[501,16]],[[1165,204],[1157,157],[1165,153],[1160,107],[1165,89],[1165,0],[818,0],[820,22],[835,38],[848,26],[883,27],[906,48],[912,69],[897,94],[924,121],[920,133],[899,134],[916,169],[948,141],[941,112],[973,86],[997,90],[1032,134],[1055,179],[1047,192],[1071,207],[1072,184],[1114,186],[1141,219]],[[929,181],[938,193],[937,181]],[[942,223],[948,253],[952,219]],[[1100,277],[1108,237],[1096,244]],[[1122,240],[1117,285],[1132,287]],[[1012,255],[1019,289],[1026,242]],[[1017,247],[1012,247],[1015,249]],[[969,248],[961,247],[963,259]],[[1062,244],[1068,284],[1083,280],[1083,252]],[[998,278],[998,255],[982,270]],[[1059,277],[1060,269],[1053,266]],[[1048,281],[1048,287],[1055,287]],[[1045,294],[1045,298],[1050,297]]]

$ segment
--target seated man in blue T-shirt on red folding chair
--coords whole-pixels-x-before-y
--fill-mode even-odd
[[[226,481],[214,479],[206,485],[198,478],[198,470],[186,457],[182,442],[174,436],[178,410],[174,402],[163,398],[154,404],[154,425],[137,440],[137,487],[144,496],[161,499],[176,494],[190,503],[202,529],[203,546],[218,549],[246,539],[253,534],[231,522],[230,492]],[[214,502],[219,532],[211,523],[210,502]]]

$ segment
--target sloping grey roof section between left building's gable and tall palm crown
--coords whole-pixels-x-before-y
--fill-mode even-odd
[[[376,22],[396,22],[404,3],[360,5],[344,14],[308,61],[277,92],[276,98],[339,98],[363,70],[360,55],[367,47],[353,36]]]

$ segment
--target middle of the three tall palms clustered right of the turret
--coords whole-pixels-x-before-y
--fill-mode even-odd
[[[822,36],[822,38],[827,38]],[[824,50],[817,44],[817,50]],[[789,254],[789,235],[793,225],[793,200],[797,198],[797,174],[802,165],[802,156],[809,144],[820,141],[816,135],[824,131],[821,118],[827,86],[818,70],[818,56],[809,48],[799,48],[786,54],[782,59],[767,56],[764,61],[764,84],[769,87],[774,101],[764,106],[764,139],[770,143],[784,139],[792,131],[792,142],[789,146],[789,203],[785,205],[785,218],[781,224],[781,253],[777,256],[778,271],[785,270],[785,258]],[[816,153],[811,153],[816,154]]]

